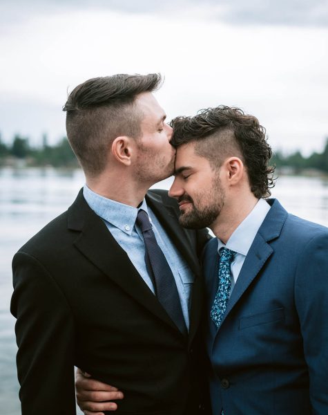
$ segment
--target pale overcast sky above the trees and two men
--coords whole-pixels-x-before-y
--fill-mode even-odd
[[[327,0],[0,0],[0,131],[65,135],[67,91],[113,73],[160,72],[168,114],[227,104],[273,149],[328,137]]]

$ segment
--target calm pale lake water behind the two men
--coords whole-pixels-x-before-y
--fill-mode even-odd
[[[19,415],[15,319],[10,314],[12,256],[33,234],[73,203],[84,184],[80,170],[0,169],[0,412]],[[154,187],[168,189],[171,179]],[[328,226],[328,180],[282,176],[272,196],[289,212]],[[240,201],[242,203],[242,201]],[[51,374],[49,374],[51,376]],[[46,382],[46,379],[44,380]],[[37,391],[36,391],[37,394]]]

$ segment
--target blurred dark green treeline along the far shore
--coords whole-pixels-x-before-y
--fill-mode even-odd
[[[56,145],[48,145],[47,137],[44,136],[40,147],[31,147],[28,138],[16,135],[10,145],[6,145],[0,137],[0,166],[15,163],[15,160],[23,160],[27,166],[53,166],[53,167],[77,167],[75,155],[68,144],[66,137],[62,138]],[[289,167],[294,172],[305,169],[316,169],[328,173],[328,138],[322,153],[313,153],[304,157],[300,151],[288,156],[276,151],[271,159],[271,165],[277,169]]]

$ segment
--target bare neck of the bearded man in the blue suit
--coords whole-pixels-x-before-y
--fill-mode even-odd
[[[225,201],[218,218],[210,226],[215,237],[226,243],[256,203],[258,199],[250,192],[244,196],[236,195],[231,201]]]

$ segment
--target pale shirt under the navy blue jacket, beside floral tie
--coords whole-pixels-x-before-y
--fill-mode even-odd
[[[231,262],[231,273],[233,278],[231,279],[231,290],[230,294],[233,291],[233,287],[235,286],[235,282],[238,279],[240,274],[240,270],[242,269],[242,264],[244,264],[244,260],[246,258],[249,249],[251,248],[251,244],[255,239],[262,222],[267,216],[267,213],[270,210],[270,205],[264,199],[260,199],[258,203],[254,206],[253,210],[246,216],[246,218],[238,225],[231,234],[231,237],[226,242],[226,245],[218,239],[218,252],[220,255],[221,248],[229,248],[236,252],[233,261]]]

